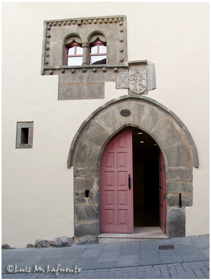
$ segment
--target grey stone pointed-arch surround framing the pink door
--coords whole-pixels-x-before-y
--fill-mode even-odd
[[[123,109],[130,115],[122,116]],[[195,144],[172,111],[151,98],[132,94],[98,108],[73,139],[67,167],[74,167],[75,236],[93,239],[100,233],[101,156],[110,139],[127,126],[146,131],[159,145],[165,160],[166,233],[170,238],[185,236],[185,207],[192,206],[192,169],[198,167]]]

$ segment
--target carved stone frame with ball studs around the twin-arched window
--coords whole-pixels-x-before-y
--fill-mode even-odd
[[[91,37],[92,33],[102,33],[101,27],[104,25],[111,25],[112,27],[116,26],[117,32],[119,34],[119,38],[116,39],[117,47],[115,51],[115,55],[112,56],[111,61],[106,64],[97,64],[97,65],[90,65],[89,63],[89,38]],[[52,62],[52,44],[57,44],[57,38],[61,39],[63,36],[58,31],[59,35],[55,36],[54,29],[55,28],[68,28],[68,27],[81,27],[83,26],[95,26],[95,31],[91,31],[91,33],[87,33],[87,37],[83,38],[82,47],[83,47],[83,63],[82,65],[66,65],[65,61],[65,39],[71,37],[71,35],[76,35],[80,40],[82,39],[80,31],[73,30],[73,33],[64,35],[62,41],[62,52],[60,47],[54,47],[54,54],[55,49],[57,53],[56,61]],[[100,28],[99,28],[100,27]],[[57,31],[55,31],[57,32]],[[64,32],[65,33],[65,32]],[[103,34],[106,36],[106,34]],[[58,36],[58,37],[57,37]],[[56,42],[55,42],[56,40]],[[78,43],[78,41],[77,41]],[[61,44],[61,42],[59,42]],[[107,57],[108,57],[108,44],[107,44],[107,36],[106,36],[106,45],[107,45]],[[111,45],[109,43],[109,45]],[[110,56],[109,56],[110,57]],[[113,58],[118,57],[117,60],[114,62]],[[62,60],[59,62],[59,60]],[[126,64],[125,64],[126,63]],[[43,30],[43,46],[42,46],[42,62],[41,62],[41,75],[59,75],[60,72],[64,73],[64,71],[69,71],[74,69],[81,69],[86,67],[85,69],[97,67],[103,68],[106,67],[108,69],[115,68],[115,72],[117,68],[127,68],[127,39],[126,39],[126,16],[103,16],[103,17],[89,17],[89,18],[74,18],[74,19],[62,19],[62,20],[47,20],[44,21],[44,30]],[[73,72],[72,72],[73,73]]]

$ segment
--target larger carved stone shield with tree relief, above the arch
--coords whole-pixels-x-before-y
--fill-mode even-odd
[[[134,93],[142,93],[147,89],[147,72],[146,69],[137,69],[129,72],[129,89]]]

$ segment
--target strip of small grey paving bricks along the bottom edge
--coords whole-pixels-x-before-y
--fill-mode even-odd
[[[7,273],[2,279],[206,279],[209,261],[86,269],[81,272]]]

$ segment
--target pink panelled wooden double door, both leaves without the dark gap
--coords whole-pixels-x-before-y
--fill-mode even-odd
[[[161,165],[161,157],[163,157],[162,153],[161,156],[159,156],[159,167]],[[164,160],[162,163],[164,163]],[[162,175],[165,176],[164,173],[162,173]],[[164,178],[164,180],[162,180],[164,184],[159,184],[159,186],[162,192],[165,193],[165,177],[162,178]],[[163,203],[163,214],[165,213],[164,208],[165,205]],[[162,221],[164,221],[164,219]],[[163,228],[164,226],[162,229]],[[120,131],[111,139],[101,158],[100,232],[133,233],[131,127]]]

